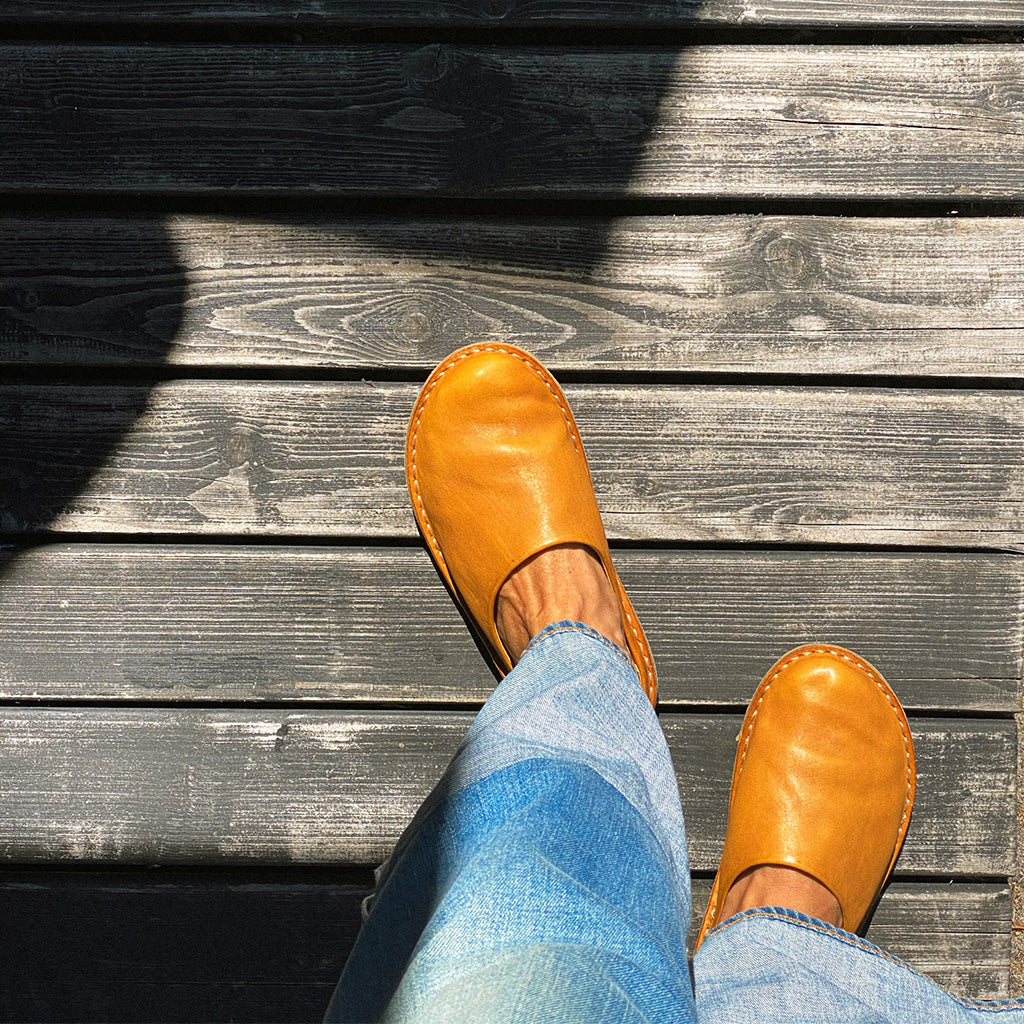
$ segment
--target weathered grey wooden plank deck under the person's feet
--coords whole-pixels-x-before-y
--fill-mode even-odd
[[[488,339],[578,414],[695,906],[750,693],[833,640],[919,748],[868,937],[1024,991],[1022,39],[1020,0],[5,0],[0,1017],[323,1013],[493,686],[402,476]]]

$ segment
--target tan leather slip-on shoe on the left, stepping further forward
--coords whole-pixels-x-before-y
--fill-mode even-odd
[[[437,570],[501,676],[512,668],[495,624],[502,584],[531,555],[582,544],[604,566],[630,655],[656,701],[654,662],[611,564],[580,433],[537,359],[497,343],[444,359],[413,410],[406,477]]]

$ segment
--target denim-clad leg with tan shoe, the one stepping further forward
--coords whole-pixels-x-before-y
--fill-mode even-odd
[[[395,850],[329,1017],[692,1020],[653,660],[565,396],[519,349],[462,349],[420,392],[406,473],[506,678]]]

